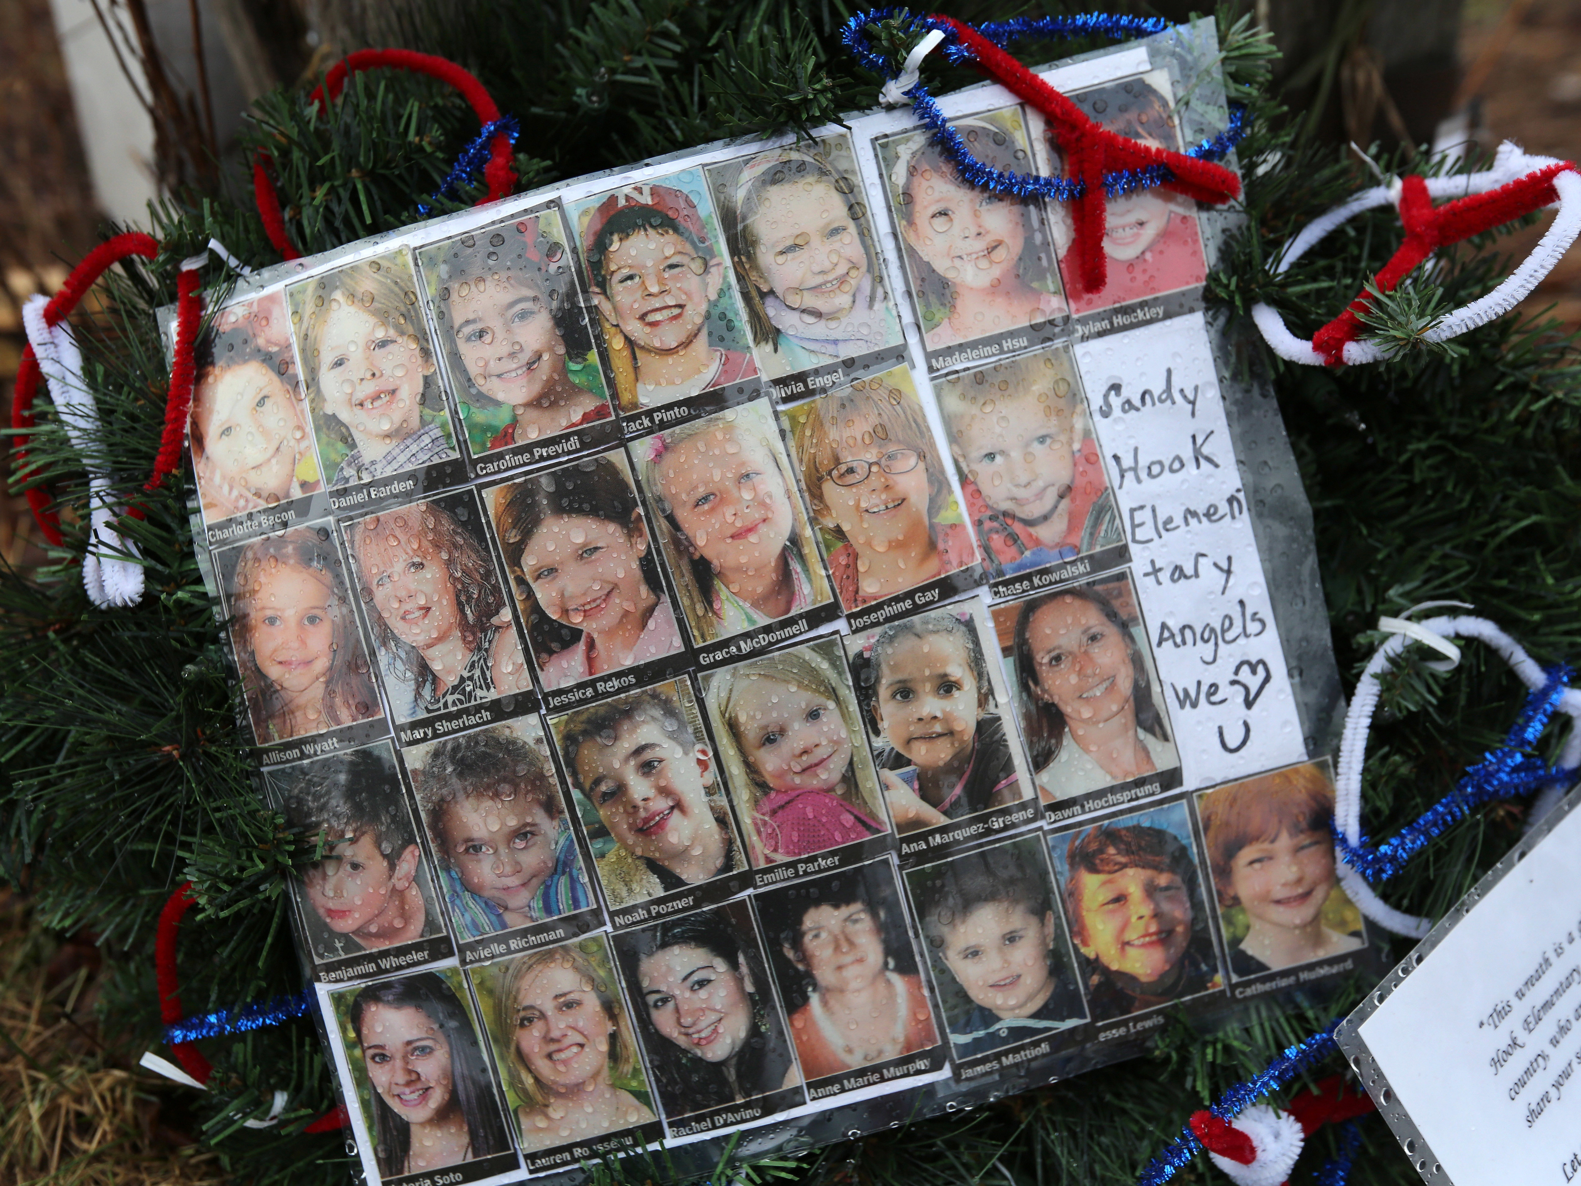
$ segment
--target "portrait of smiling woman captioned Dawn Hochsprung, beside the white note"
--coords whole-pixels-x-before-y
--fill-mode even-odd
[[[1021,737],[1045,803],[1154,778],[1179,784],[1179,754],[1153,647],[1127,574],[993,609]]]

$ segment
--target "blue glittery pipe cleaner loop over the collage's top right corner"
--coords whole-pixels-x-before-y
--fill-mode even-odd
[[[882,54],[873,52],[868,46],[865,28],[881,21],[898,21],[909,33],[926,33],[934,28],[944,33],[944,55],[952,63],[972,62],[971,51],[955,38],[955,30],[941,21],[926,16],[912,16],[906,8],[870,8],[851,17],[840,30],[840,40],[851,51],[852,57],[874,74],[898,77],[900,71]],[[1086,13],[1067,17],[1015,17],[1013,21],[996,21],[982,25],[977,32],[1004,46],[1021,38],[1073,38],[1073,36],[1107,36],[1123,41],[1132,36],[1151,36],[1168,28],[1168,22],[1157,17],[1118,16],[1113,13]],[[928,89],[917,82],[904,92],[911,98],[911,108],[917,119],[933,130],[933,138],[944,149],[944,155],[955,164],[961,180],[980,190],[1002,193],[1012,198],[1047,198],[1056,202],[1075,201],[1086,193],[1085,180],[1066,180],[1064,177],[1037,177],[1034,174],[1010,172],[983,164],[966,147],[966,141],[950,127],[950,122],[939,111],[938,101]],[[1184,155],[1203,161],[1217,161],[1246,138],[1247,114],[1243,103],[1230,103],[1230,123],[1216,136],[1206,136]],[[1151,190],[1175,179],[1173,171],[1165,164],[1153,164],[1146,169],[1115,169],[1104,174],[1104,193],[1119,198],[1135,190]]]

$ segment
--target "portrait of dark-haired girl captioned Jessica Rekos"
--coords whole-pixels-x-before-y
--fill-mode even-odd
[[[484,498],[545,691],[685,650],[624,452]]]

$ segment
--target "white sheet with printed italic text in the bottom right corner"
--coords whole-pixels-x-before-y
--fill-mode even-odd
[[[1458,1186],[1581,1180],[1578,848],[1573,810],[1356,1029]]]

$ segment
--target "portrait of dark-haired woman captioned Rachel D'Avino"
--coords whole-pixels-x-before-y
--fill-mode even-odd
[[[802,1082],[745,903],[615,939],[672,1120]]]

